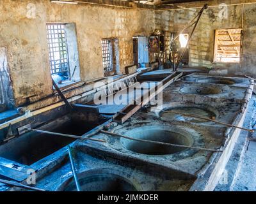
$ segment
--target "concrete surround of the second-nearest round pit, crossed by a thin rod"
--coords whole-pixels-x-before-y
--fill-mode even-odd
[[[143,117],[147,119],[141,120]],[[136,118],[138,120],[135,120]],[[176,135],[180,133],[182,136],[191,136],[191,140],[193,140],[193,145],[195,147],[218,149],[218,147],[225,142],[225,128],[214,128],[211,126],[207,126],[207,128],[205,128],[205,126],[195,126],[193,124],[185,124],[184,122],[163,122],[163,120],[153,119],[143,112],[139,112],[138,114],[134,115],[134,120],[132,120],[132,122],[127,122],[123,126],[116,126],[116,128],[112,129],[111,131],[121,135],[140,136],[141,131],[143,131],[141,128],[145,128],[145,131],[151,132],[156,129],[162,129],[163,131],[176,133]],[[212,152],[193,149],[185,149],[173,154],[168,154],[168,152],[158,155],[157,152],[156,155],[147,153],[141,154],[140,152],[134,152],[134,150],[129,150],[124,147],[124,144],[127,141],[120,140],[118,137],[111,137],[99,133],[93,136],[93,138],[103,138],[107,141],[107,143],[98,144],[79,142],[79,145],[84,149],[84,151],[89,151],[89,149],[91,149],[91,152],[95,152],[94,154],[114,156],[116,158],[120,157],[122,160],[129,157],[132,161],[140,161],[141,164],[144,163],[145,165],[147,165],[147,163],[156,164],[158,166],[163,166],[164,168],[170,169],[174,175],[196,175],[196,173],[201,170],[212,155]],[[154,138],[151,140],[154,140]],[[136,143],[129,146],[135,145]],[[139,145],[141,148],[144,147],[146,149],[147,147],[146,144],[140,143]]]

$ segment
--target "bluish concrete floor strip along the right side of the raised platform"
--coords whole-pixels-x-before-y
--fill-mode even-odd
[[[251,129],[255,126],[255,113],[256,96],[253,95],[244,120],[244,128]],[[256,133],[250,135],[246,131],[241,131],[225,173],[215,191],[256,191],[256,142],[249,141],[250,136],[256,138]]]

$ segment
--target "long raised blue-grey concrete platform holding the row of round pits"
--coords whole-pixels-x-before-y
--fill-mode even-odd
[[[209,108],[211,106],[211,110],[216,113],[218,120],[220,119],[221,121],[235,125],[237,122],[238,124],[243,122],[243,106],[246,103],[244,98],[246,98],[246,94],[252,93],[252,89],[251,92],[246,92],[245,87],[232,87],[231,85],[218,86],[220,89],[225,87],[228,93],[231,90],[243,89],[243,92],[237,94],[236,99],[220,97],[220,93],[216,93],[216,95],[219,94],[218,97],[212,97],[211,94],[193,93],[189,94],[189,97],[185,93],[177,94],[180,97],[173,97],[173,89],[177,87],[177,84],[180,84],[180,82],[172,84],[165,89],[163,97],[164,108],[173,108],[178,103],[184,106],[194,104],[195,106],[201,106],[201,108],[205,108],[205,106]],[[183,82],[183,84],[195,85],[196,83]],[[211,84],[200,84],[208,87],[212,86]],[[177,89],[177,92],[179,92],[179,89]],[[170,96],[172,97],[170,98]],[[246,99],[248,98],[250,96]],[[151,108],[153,107],[151,106]],[[140,191],[157,191],[159,189],[166,191],[201,191],[208,187],[208,181],[211,179],[212,171],[217,169],[217,173],[219,172],[219,166],[216,167],[216,163],[225,165],[228,160],[223,161],[223,159],[220,159],[223,156],[223,152],[216,152],[216,150],[227,149],[229,152],[229,149],[233,149],[233,147],[226,148],[226,144],[229,144],[230,140],[231,143],[236,142],[237,135],[239,134],[234,134],[234,131],[237,131],[237,129],[208,122],[177,120],[176,117],[171,120],[163,120],[161,116],[159,117],[159,113],[152,111],[151,108],[142,108],[140,112],[134,114],[124,124],[116,124],[111,121],[108,124],[102,124],[100,126],[104,126],[109,131],[114,131],[122,135],[131,137],[150,136],[155,141],[163,140],[163,142],[169,143],[174,142],[189,146],[193,145],[194,147],[206,147],[214,149],[213,152],[209,150],[186,149],[184,147],[180,149],[173,147],[168,149],[162,146],[159,148],[154,145],[148,147],[145,144],[141,145],[141,143],[134,143],[131,140],[124,140],[124,138],[116,138],[92,129],[88,132],[92,133],[92,131],[96,131],[93,133],[93,136],[91,135],[92,138],[104,139],[106,143],[92,142],[89,140],[76,140],[72,143],[71,146],[74,147],[76,153],[75,159],[78,160],[77,170],[79,175],[84,177],[84,175],[95,173],[113,174],[121,170],[117,173],[118,177],[125,175],[128,180],[132,176],[136,177],[136,180],[131,181],[131,183],[136,184],[136,186],[139,183],[140,187],[138,190]],[[106,109],[108,110],[108,107]],[[109,111],[113,111],[112,108]],[[227,112],[228,114],[225,114]],[[98,130],[99,126],[96,129]],[[147,154],[148,152],[145,150],[149,149],[153,151]],[[141,150],[143,152],[140,152]],[[65,185],[68,182],[72,182],[72,179],[70,179],[72,178],[72,174],[70,173],[66,147],[33,163],[31,167],[38,170],[37,187],[45,186],[50,191],[59,191],[65,190]],[[105,171],[106,169],[107,171]],[[219,174],[221,175],[221,173]],[[100,178],[102,177],[100,176]],[[217,177],[217,179],[219,178]],[[217,179],[215,179],[216,182],[218,182]],[[88,179],[86,177],[85,180],[82,180],[86,182],[86,180],[92,181],[94,179],[91,177]],[[144,183],[141,182],[142,180]],[[166,185],[166,182],[163,180],[167,180],[168,184]],[[215,182],[215,180],[210,181]],[[147,184],[145,181],[148,181]],[[152,184],[154,186],[153,188],[148,187],[152,186]],[[210,185],[211,187],[215,187],[215,183],[211,183]]]

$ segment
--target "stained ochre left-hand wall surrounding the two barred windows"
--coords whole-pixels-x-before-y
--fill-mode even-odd
[[[125,66],[133,64],[132,36],[152,33],[154,19],[154,11],[136,8],[1,0],[0,47],[7,48],[16,105],[52,93],[47,22],[76,24],[81,80],[90,80],[104,76],[102,38],[118,38],[124,72]]]

